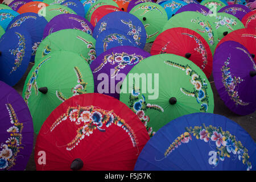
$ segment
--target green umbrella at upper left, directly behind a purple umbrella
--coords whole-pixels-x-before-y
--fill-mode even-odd
[[[46,7],[46,20],[49,22],[54,16],[60,14],[75,14],[76,12],[63,5],[49,5]]]

